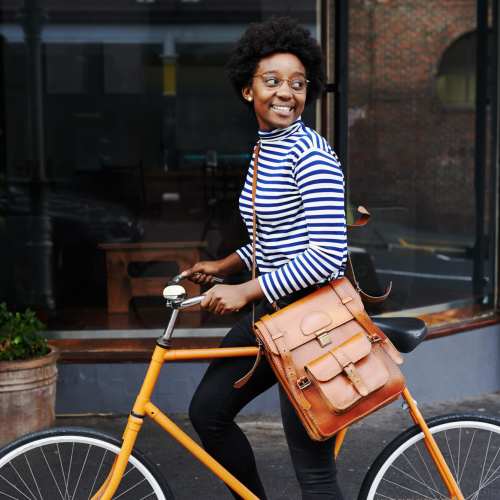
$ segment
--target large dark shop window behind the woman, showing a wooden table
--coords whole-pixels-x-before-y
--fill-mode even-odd
[[[257,126],[224,64],[249,22],[283,14],[319,38],[307,0],[0,2],[2,300],[52,330],[165,325],[167,277],[247,241]]]

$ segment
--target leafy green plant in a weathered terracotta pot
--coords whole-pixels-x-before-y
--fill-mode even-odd
[[[58,352],[44,329],[30,309],[0,304],[0,445],[54,422]]]

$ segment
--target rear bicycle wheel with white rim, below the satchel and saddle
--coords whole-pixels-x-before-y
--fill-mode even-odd
[[[447,415],[427,422],[465,499],[500,498],[500,420]],[[360,499],[445,499],[449,493],[420,427],[397,436],[370,467]]]

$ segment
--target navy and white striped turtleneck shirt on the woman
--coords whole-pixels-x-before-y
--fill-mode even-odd
[[[256,262],[260,286],[274,302],[344,273],[344,176],[326,140],[300,119],[259,137]],[[250,240],[254,159],[239,199]],[[252,269],[252,243],[236,252]]]

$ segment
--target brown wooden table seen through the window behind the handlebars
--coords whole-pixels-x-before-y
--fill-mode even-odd
[[[173,241],[143,243],[101,243],[106,252],[108,312],[128,312],[132,297],[161,297],[171,276],[133,277],[129,274],[132,262],[175,262],[179,272],[200,260],[204,241]],[[200,286],[184,281],[188,297],[200,294]],[[196,309],[193,307],[193,309]]]

